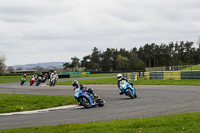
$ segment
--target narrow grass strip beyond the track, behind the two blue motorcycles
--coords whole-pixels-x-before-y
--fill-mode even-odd
[[[140,78],[137,81],[131,81],[134,85],[200,85],[198,79],[183,79],[183,80],[144,80]],[[80,84],[117,84],[117,78],[101,78],[79,80]],[[72,81],[57,82],[56,85],[71,85]]]

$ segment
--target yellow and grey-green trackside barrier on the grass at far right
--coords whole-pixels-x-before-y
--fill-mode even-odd
[[[200,71],[163,71],[163,72],[145,72],[145,80],[181,80],[181,79],[200,79]]]

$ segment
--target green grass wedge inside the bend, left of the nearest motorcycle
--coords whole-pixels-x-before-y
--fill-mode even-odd
[[[37,110],[69,104],[77,104],[74,97],[0,94],[0,113]]]

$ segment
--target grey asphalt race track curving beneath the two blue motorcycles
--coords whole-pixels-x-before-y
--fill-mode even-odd
[[[118,94],[116,85],[87,85],[102,97],[104,107],[85,109],[73,107],[34,114],[0,115],[0,129],[85,123],[150,117],[200,111],[199,86],[136,85],[138,98]],[[0,84],[1,94],[36,94],[73,96],[72,86],[24,86],[19,83]]]

